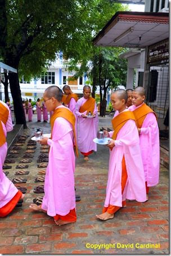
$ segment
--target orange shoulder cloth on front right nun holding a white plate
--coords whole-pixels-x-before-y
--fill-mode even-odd
[[[118,116],[114,117],[113,120],[111,121],[112,125],[113,125],[113,129],[114,129],[114,133],[112,138],[115,140],[116,136],[118,134],[118,131],[122,128],[122,126],[129,120],[135,120],[134,114],[132,111],[125,111],[122,112],[120,114],[118,114]]]

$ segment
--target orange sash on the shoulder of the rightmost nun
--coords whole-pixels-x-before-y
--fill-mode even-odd
[[[153,112],[156,116],[156,113],[146,105],[146,103],[143,103],[140,108],[137,108],[133,111],[134,117],[137,121],[138,128],[142,127],[143,121],[145,120],[148,113]],[[156,120],[158,120],[158,117],[156,116]]]

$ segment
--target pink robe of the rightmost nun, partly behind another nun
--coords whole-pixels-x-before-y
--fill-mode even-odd
[[[142,105],[142,104],[141,104]],[[134,111],[138,106],[129,107],[130,111]],[[160,170],[160,142],[159,127],[154,113],[147,114],[143,121],[140,133],[140,148],[145,171],[145,181],[148,187],[155,186],[159,183]]]

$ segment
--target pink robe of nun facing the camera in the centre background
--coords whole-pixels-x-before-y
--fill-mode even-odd
[[[97,151],[97,144],[93,142],[93,139],[97,138],[98,130],[98,114],[97,105],[95,104],[95,109],[93,113],[96,114],[95,118],[83,118],[82,114],[87,114],[87,111],[80,113],[80,107],[86,102],[87,99],[84,97],[77,101],[75,107],[75,114],[78,116],[78,148],[80,152],[87,153],[89,151]]]

